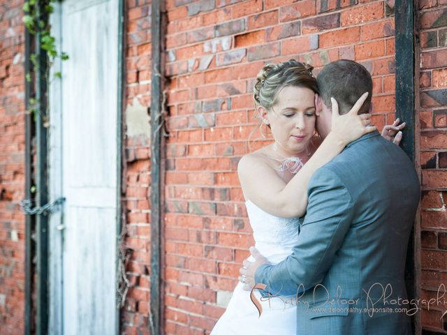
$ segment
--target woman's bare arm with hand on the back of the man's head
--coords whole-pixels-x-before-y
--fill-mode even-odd
[[[242,157],[237,165],[237,173],[244,195],[272,215],[284,218],[304,215],[307,207],[307,184],[312,174],[342,152],[346,144],[376,130],[374,126],[365,128],[363,124],[362,120],[369,115],[357,115],[366,98],[367,94],[361,96],[351,111],[341,117],[337,102],[332,100],[332,131],[288,184],[258,156]]]

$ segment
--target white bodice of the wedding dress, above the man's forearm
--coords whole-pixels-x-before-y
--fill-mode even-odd
[[[296,244],[300,219],[274,216],[250,200],[245,206],[258,251],[273,264],[284,260]]]

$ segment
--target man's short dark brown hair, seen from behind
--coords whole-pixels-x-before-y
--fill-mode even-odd
[[[369,96],[358,114],[369,112],[372,98],[372,77],[365,66],[349,59],[340,59],[326,65],[316,78],[320,96],[326,106],[332,107],[330,98],[335,98],[339,113],[346,114],[365,92]]]

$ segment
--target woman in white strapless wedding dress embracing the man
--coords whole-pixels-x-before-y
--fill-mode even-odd
[[[247,214],[258,251],[272,264],[292,253],[298,236],[298,218],[307,207],[307,184],[318,168],[335,158],[348,144],[365,133],[370,115],[357,112],[371,97],[363,94],[348,114],[332,111],[332,131],[321,142],[316,137],[315,107],[318,87],[312,66],[291,59],[262,68],[254,85],[256,111],[272,133],[274,142],[242,157],[237,167]],[[333,106],[337,103],[333,101]],[[383,128],[388,140],[404,127]],[[397,133],[399,144],[402,133]],[[253,259],[252,259],[253,260]],[[251,301],[250,292],[237,283],[225,313],[212,329],[212,335],[295,334],[294,297],[270,297],[261,301],[262,314]]]

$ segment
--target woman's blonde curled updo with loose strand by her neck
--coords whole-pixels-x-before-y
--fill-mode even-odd
[[[276,103],[279,91],[286,86],[305,87],[318,93],[316,79],[312,75],[313,69],[313,66],[301,63],[295,59],[283,61],[278,64],[265,65],[259,71],[253,88],[255,106],[262,106],[266,110],[271,110],[272,106]],[[251,132],[249,138],[258,127],[261,129],[263,125],[261,116],[256,114],[256,118],[259,119],[258,125]],[[268,128],[270,128],[270,125],[268,125]],[[261,135],[263,135],[262,129]]]

